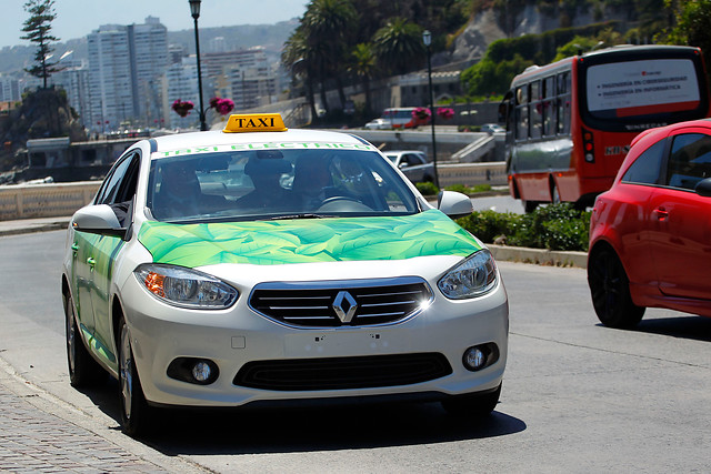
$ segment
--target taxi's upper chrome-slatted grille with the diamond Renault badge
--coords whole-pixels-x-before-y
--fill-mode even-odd
[[[250,306],[291,326],[337,327],[389,324],[414,315],[432,297],[419,278],[342,282],[261,283]]]

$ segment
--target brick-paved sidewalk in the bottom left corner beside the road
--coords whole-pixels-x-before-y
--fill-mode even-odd
[[[0,472],[169,472],[41,410],[31,403],[39,395],[19,394],[11,386],[17,382],[0,376]]]

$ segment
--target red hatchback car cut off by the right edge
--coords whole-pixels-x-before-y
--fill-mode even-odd
[[[632,141],[595,200],[588,283],[607,326],[634,326],[645,307],[711,316],[711,120]]]

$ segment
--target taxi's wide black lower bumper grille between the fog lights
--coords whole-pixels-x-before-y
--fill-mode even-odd
[[[252,361],[233,384],[260,390],[312,391],[410,385],[452,373],[439,353]]]

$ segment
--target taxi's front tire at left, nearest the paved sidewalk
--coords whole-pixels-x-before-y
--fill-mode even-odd
[[[150,421],[150,407],[143,395],[141,381],[133,361],[131,337],[126,320],[119,321],[119,401],[121,409],[121,430],[124,434],[137,437],[146,432]]]

